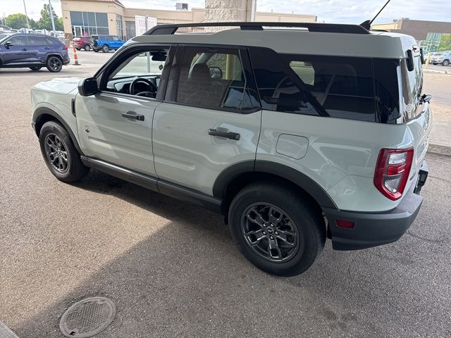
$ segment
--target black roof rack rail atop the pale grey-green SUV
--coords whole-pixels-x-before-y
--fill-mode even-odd
[[[241,30],[263,30],[263,27],[301,27],[309,32],[369,34],[369,30],[360,25],[342,23],[180,23],[152,27],[144,35],[173,35],[181,27],[240,27]]]

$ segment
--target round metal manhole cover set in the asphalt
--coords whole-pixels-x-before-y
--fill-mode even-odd
[[[106,329],[116,316],[111,299],[91,297],[70,306],[59,322],[66,337],[92,337]]]

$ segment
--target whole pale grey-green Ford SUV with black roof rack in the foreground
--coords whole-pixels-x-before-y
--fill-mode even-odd
[[[187,26],[207,30],[175,34]],[[58,180],[94,168],[200,204],[254,265],[296,275],[326,237],[363,249],[414,221],[431,131],[421,60],[412,37],[359,25],[159,25],[94,77],[33,87],[32,125]]]

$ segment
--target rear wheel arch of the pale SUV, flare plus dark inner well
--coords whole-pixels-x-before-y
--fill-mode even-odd
[[[295,184],[295,187],[310,196],[321,210],[322,207],[337,208],[318,183],[298,170],[271,161],[244,161],[230,165],[214,182],[213,196],[223,199],[222,211],[226,218],[228,206],[235,194],[245,185],[259,180],[278,180]]]

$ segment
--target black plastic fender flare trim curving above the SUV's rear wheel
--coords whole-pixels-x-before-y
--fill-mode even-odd
[[[307,175],[283,165],[271,161],[243,161],[230,165],[216,177],[213,185],[213,196],[223,199],[226,196],[228,184],[235,177],[246,173],[265,173],[276,175],[296,184],[316,201],[321,207],[337,208],[333,199],[330,198],[326,190]]]

